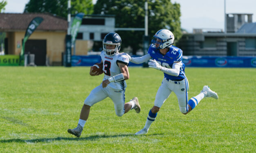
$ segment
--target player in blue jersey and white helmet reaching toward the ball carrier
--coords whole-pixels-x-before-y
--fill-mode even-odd
[[[182,62],[182,50],[174,43],[174,35],[167,29],[161,29],[154,35],[148,54],[142,57],[129,57],[129,61],[133,63],[143,63],[149,60],[149,67],[164,72],[162,85],[159,87],[154,106],[150,109],[145,127],[135,133],[136,135],[147,134],[150,125],[156,119],[157,112],[174,92],[178,98],[180,112],[188,114],[198,103],[205,97],[213,97],[218,99],[216,92],[209,89],[207,85],[197,96],[188,99],[189,82],[185,75],[185,64]]]

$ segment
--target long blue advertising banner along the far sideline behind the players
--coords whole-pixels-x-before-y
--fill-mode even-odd
[[[138,57],[138,56],[132,56]],[[92,66],[101,61],[100,55],[72,56],[72,66]],[[256,57],[183,56],[186,67],[256,68]],[[142,66],[129,62],[129,66]]]

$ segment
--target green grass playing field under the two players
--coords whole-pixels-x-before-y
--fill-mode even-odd
[[[209,85],[219,99],[203,99],[189,114],[179,111],[174,93],[145,136],[145,125],[163,79],[152,68],[129,68],[126,102],[142,108],[122,117],[110,98],[93,105],[80,138],[76,127],[83,101],[103,75],[89,67],[0,67],[0,152],[3,153],[170,153],[256,152],[256,69],[186,68],[189,98]]]

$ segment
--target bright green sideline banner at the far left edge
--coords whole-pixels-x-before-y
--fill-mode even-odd
[[[19,55],[0,55],[0,66],[19,66]]]

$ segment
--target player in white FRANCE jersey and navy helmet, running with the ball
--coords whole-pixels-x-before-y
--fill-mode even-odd
[[[91,106],[107,97],[113,101],[117,116],[122,116],[130,109],[135,109],[136,113],[140,113],[137,97],[125,103],[125,88],[127,86],[125,80],[129,79],[129,58],[126,53],[119,53],[121,42],[121,37],[117,33],[108,33],[103,39],[103,50],[100,56],[105,76],[102,83],[94,88],[85,99],[77,127],[68,129],[68,133],[79,138],[88,119]],[[90,75],[96,76],[99,73],[92,72],[91,67]]]

